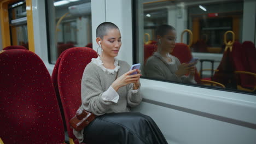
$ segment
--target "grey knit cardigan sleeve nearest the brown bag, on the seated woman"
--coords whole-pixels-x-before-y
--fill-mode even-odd
[[[102,98],[104,92],[101,87],[100,76],[93,66],[88,64],[84,70],[81,85],[82,108],[100,116],[109,110],[110,105],[115,103],[111,100],[103,99],[104,97]]]

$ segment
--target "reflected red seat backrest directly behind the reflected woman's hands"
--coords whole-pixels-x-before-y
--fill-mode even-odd
[[[171,54],[177,57],[181,63],[189,63],[193,58],[188,45],[184,43],[176,43]],[[195,81],[197,83],[201,83],[201,79],[197,70],[195,73]]]

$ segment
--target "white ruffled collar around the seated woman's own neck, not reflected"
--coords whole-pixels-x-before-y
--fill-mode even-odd
[[[98,67],[100,67],[104,71],[104,73],[115,74],[119,70],[120,66],[118,65],[118,59],[115,58],[115,57],[114,57],[114,59],[115,59],[115,62],[114,62],[115,68],[114,69],[107,69],[107,68],[105,68],[103,66],[104,64],[103,64],[103,62],[101,60],[101,57],[92,58],[91,62],[95,63]]]

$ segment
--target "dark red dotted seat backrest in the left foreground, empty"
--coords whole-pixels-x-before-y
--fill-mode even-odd
[[[4,143],[65,141],[50,74],[35,53],[1,51],[0,80],[0,137]]]

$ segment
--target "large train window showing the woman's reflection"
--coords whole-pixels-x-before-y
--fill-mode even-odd
[[[145,78],[255,94],[256,1],[132,2]]]

